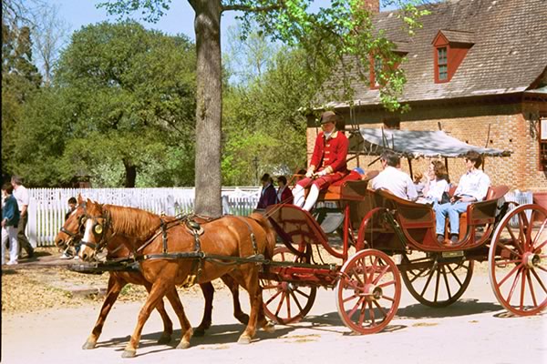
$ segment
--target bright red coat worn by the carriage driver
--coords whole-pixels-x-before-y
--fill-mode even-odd
[[[347,174],[347,147],[349,142],[344,133],[335,131],[333,135],[325,140],[325,134],[319,133],[315,139],[314,155],[310,165],[315,166],[315,171],[330,167],[329,173]]]

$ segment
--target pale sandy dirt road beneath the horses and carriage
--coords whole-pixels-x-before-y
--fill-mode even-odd
[[[181,297],[191,323],[201,319],[202,298]],[[242,294],[247,303],[246,294]],[[2,363],[547,363],[547,318],[509,316],[497,303],[486,273],[477,272],[470,288],[449,308],[427,308],[403,288],[397,313],[384,332],[354,336],[338,318],[333,291],[320,289],[309,317],[274,334],[259,332],[251,345],[236,343],[243,326],[232,318],[228,292],[217,292],[213,327],[191,348],[177,342],[158,345],[160,316],[154,312],[143,330],[134,359],[121,352],[134,329],[140,303],[117,303],[98,348],[81,349],[100,304],[3,314]],[[248,311],[248,305],[244,305]],[[174,314],[170,311],[171,317]],[[175,323],[175,328],[180,328]],[[175,331],[180,339],[180,330]]]

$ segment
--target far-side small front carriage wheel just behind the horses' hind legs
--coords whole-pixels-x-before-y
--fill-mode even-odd
[[[275,261],[308,263],[286,247],[274,249]],[[304,319],[315,302],[317,288],[300,286],[294,282],[261,279],[264,313],[278,324],[290,324]]]

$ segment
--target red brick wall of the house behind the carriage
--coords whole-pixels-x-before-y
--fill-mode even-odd
[[[533,120],[547,112],[547,102],[483,102],[459,105],[413,106],[400,116],[400,128],[406,130],[442,130],[470,145],[510,150],[511,157],[487,157],[484,171],[490,176],[492,185],[507,185],[511,189],[547,191],[547,173],[539,171],[539,145],[534,134]],[[342,113],[341,113],[342,114]],[[353,123],[360,126],[380,127],[387,113],[380,109],[359,110]],[[346,115],[346,125],[352,120]],[[532,119],[532,122],[531,122]],[[490,137],[489,136],[490,125]],[[308,127],[308,161],[315,144],[316,127]],[[487,138],[488,137],[488,138]],[[379,162],[368,167],[377,157],[359,157],[358,165],[368,169],[380,169]],[[412,161],[413,171],[424,172],[429,159]],[[408,172],[408,163],[402,161]],[[356,167],[357,161],[349,163]],[[454,182],[464,173],[460,158],[449,158],[449,176]]]

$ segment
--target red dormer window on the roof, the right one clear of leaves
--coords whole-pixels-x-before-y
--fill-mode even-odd
[[[449,82],[473,46],[474,33],[459,30],[439,30],[433,40],[435,83]]]

